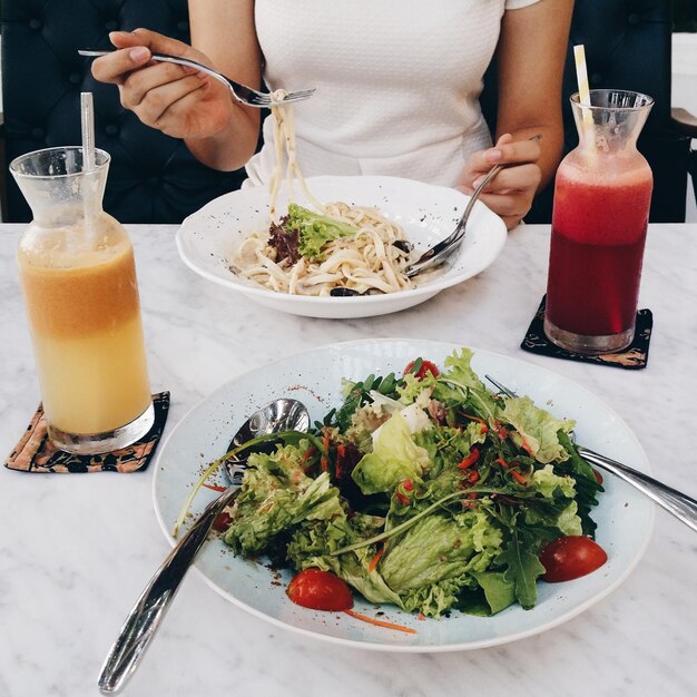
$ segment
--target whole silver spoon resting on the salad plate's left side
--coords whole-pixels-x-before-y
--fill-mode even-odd
[[[282,431],[307,431],[308,428],[310,414],[301,402],[286,399],[274,400],[247,419],[227,450],[236,449],[261,435]],[[258,452],[264,445],[267,444],[249,449],[248,452],[243,451],[246,457],[239,457],[237,453],[224,462],[230,485],[205,508],[200,517],[169,552],[136,601],[101,668],[98,685],[102,694],[118,693],[135,673],[213,523],[220,511],[237,497],[248,455],[252,452]]]

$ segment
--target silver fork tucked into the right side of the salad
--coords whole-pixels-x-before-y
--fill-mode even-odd
[[[484,377],[507,396],[518,396],[516,392],[494,380],[491,375],[484,375]],[[571,436],[575,439],[576,443],[573,432],[571,432]],[[659,482],[648,474],[644,474],[644,472],[639,472],[617,460],[601,455],[595,450],[590,450],[578,443],[576,443],[576,448],[578,454],[583,458],[583,460],[611,472],[628,484],[636,487],[641,493],[645,493],[678,520],[681,520],[688,528],[697,531],[697,501],[695,499],[677,489],[673,489],[673,487],[668,487],[668,484]]]

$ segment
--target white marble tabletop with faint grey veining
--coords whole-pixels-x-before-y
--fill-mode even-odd
[[[420,307],[355,320],[282,315],[200,279],[176,227],[132,226],[154,390],[167,430],[223,382],[272,361],[364,336],[435,337],[544,365],[616,409],[657,477],[697,495],[697,225],[649,233],[641,306],[654,311],[649,366],[631,372],[544,359],[520,341],[544,291],[549,232],[511,233],[495,264]],[[13,254],[0,225],[0,450],[39,400]],[[0,470],[0,695],[97,695],[101,661],[169,547],[137,474]],[[273,627],[189,575],[129,696],[697,694],[697,536],[662,510],[629,579],[579,617],[498,648],[452,654],[347,649]]]

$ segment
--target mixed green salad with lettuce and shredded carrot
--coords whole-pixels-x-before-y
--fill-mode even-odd
[[[423,616],[532,608],[540,551],[593,537],[602,488],[572,421],[488,390],[471,359],[346,382],[308,433],[249,457],[225,542]]]

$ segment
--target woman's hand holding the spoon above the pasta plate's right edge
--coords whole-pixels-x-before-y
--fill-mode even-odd
[[[532,206],[542,177],[537,164],[539,157],[540,146],[536,140],[513,140],[510,134],[504,134],[494,147],[470,157],[457,188],[471,195],[494,165],[504,165],[482,192],[480,200],[511,229]]]

